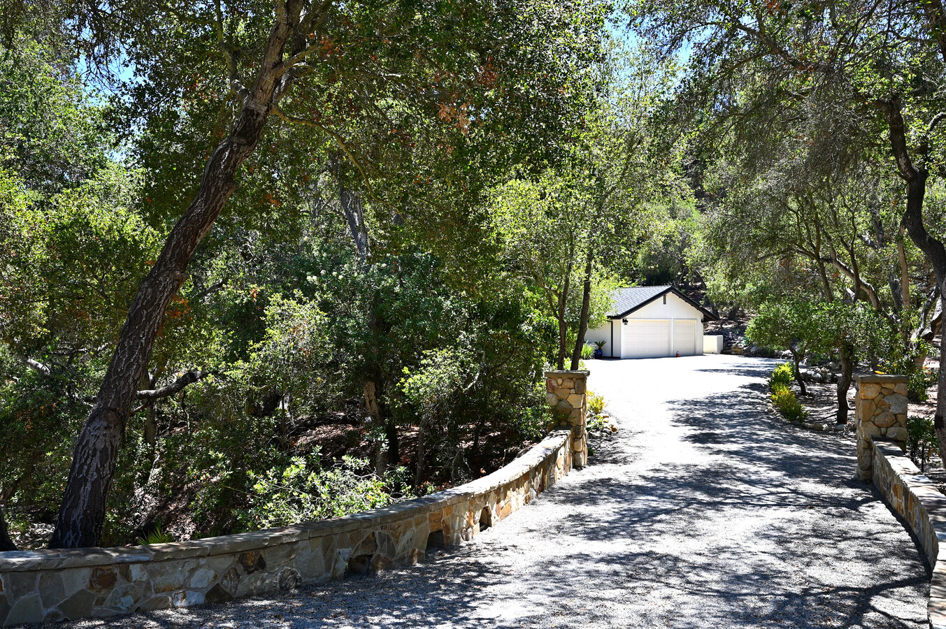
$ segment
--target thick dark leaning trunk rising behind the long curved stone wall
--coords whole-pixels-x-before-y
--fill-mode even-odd
[[[118,446],[137,384],[146,374],[167,305],[184,283],[198,244],[236,189],[237,169],[254,151],[266,126],[282,76],[278,66],[291,31],[285,19],[273,26],[259,75],[244,97],[233,131],[210,157],[197,196],[167,236],[164,249],[134,296],[96,405],[79,432],[50,548],[96,546],[101,540]]]

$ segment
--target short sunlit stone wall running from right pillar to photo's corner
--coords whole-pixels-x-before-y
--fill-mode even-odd
[[[946,557],[939,557],[939,544],[946,541],[946,496],[920,473],[896,442],[874,437],[872,453],[874,485],[917,536],[933,568],[927,604],[930,626],[946,629]]]

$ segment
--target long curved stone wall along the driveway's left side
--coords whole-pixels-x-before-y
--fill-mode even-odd
[[[576,428],[553,431],[482,479],[347,517],[136,548],[0,552],[0,626],[221,603],[414,564],[430,547],[476,537],[567,474],[572,442],[584,438]]]

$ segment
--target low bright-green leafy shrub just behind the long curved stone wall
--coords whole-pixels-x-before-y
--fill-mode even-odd
[[[251,473],[254,484],[243,527],[268,529],[341,517],[386,506],[403,495],[404,468],[382,480],[368,467],[363,459],[345,456],[340,465],[324,469],[316,450],[308,458],[293,457],[287,465]]]

